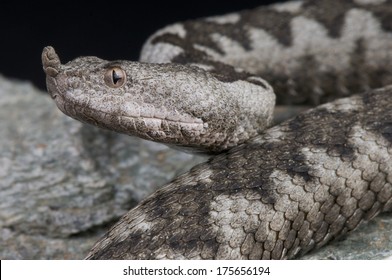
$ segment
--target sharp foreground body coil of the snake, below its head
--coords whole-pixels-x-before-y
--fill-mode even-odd
[[[327,104],[193,168],[89,258],[292,258],[392,210],[391,94]]]

